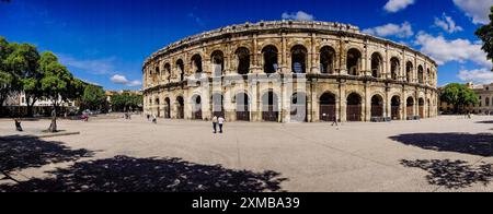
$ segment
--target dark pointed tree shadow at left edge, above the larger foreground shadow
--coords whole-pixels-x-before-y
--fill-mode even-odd
[[[42,167],[47,164],[73,162],[91,157],[88,150],[71,150],[60,142],[49,142],[36,136],[0,136],[0,171]]]

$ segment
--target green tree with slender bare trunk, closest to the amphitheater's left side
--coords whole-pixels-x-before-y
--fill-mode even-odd
[[[44,63],[41,64],[44,73],[41,80],[41,87],[44,96],[51,100],[54,109],[51,112],[51,124],[48,131],[57,132],[57,109],[62,102],[72,98],[73,76],[66,67],[58,62],[57,57],[51,52],[44,52]]]

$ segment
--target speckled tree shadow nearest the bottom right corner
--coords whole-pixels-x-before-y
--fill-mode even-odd
[[[404,167],[414,167],[426,170],[429,185],[446,187],[448,189],[461,189],[471,187],[473,183],[488,186],[493,178],[491,164],[473,166],[463,160],[450,159],[402,159]]]

